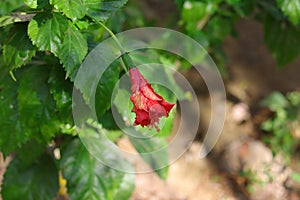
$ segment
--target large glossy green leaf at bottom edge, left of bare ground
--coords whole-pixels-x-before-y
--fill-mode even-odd
[[[129,199],[134,189],[133,174],[116,171],[99,163],[78,139],[63,152],[61,169],[68,180],[68,193],[73,200]]]

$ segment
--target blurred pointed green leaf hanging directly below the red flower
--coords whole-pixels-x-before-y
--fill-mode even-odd
[[[130,142],[140,153],[141,157],[147,162],[159,177],[166,179],[168,175],[168,151],[165,138],[136,138],[129,137]]]

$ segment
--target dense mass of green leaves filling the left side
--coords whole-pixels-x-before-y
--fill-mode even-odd
[[[71,102],[76,72],[89,48],[103,37],[95,22],[106,21],[125,3],[1,3],[0,150],[15,155],[4,177],[4,199],[53,199],[59,170],[71,199],[127,199],[131,195],[134,176],[100,164],[77,138]],[[99,82],[99,116],[108,113],[119,74],[117,63]],[[101,118],[99,123],[108,124]],[[54,150],[61,152],[61,158],[54,156]]]

